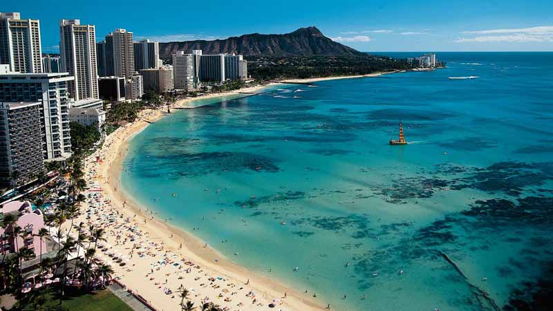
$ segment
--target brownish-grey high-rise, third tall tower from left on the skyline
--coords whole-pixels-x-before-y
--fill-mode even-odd
[[[129,78],[135,74],[133,32],[117,29],[106,35],[106,75]]]

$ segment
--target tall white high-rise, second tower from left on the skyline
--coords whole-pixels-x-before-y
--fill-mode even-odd
[[[93,25],[81,25],[79,19],[62,19],[59,23],[59,52],[62,72],[73,76],[70,96],[75,100],[98,98],[96,34]]]

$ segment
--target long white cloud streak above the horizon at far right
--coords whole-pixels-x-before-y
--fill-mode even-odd
[[[461,33],[480,36],[470,38],[460,37],[455,42],[553,42],[553,26],[471,30],[462,31]]]

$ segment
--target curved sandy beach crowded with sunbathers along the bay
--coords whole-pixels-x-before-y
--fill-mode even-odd
[[[259,88],[211,97],[253,93]],[[189,102],[178,104],[186,106]],[[111,133],[102,148],[86,159],[87,200],[74,223],[106,229],[107,241],[99,243],[103,247],[98,249],[98,257],[112,265],[121,283],[158,310],[180,310],[181,286],[189,290],[188,299],[198,307],[213,302],[224,310],[326,309],[324,297],[315,298],[314,293],[294,290],[237,265],[188,232],[156,219],[147,207],[120,189],[129,140],[163,115],[159,110],[142,111],[140,120]],[[77,235],[75,229],[71,235]],[[113,255],[123,258],[126,265],[111,262]]]

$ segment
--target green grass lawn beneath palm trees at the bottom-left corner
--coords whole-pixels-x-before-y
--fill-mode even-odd
[[[44,305],[60,307],[59,296],[57,296],[56,292],[45,292],[41,299],[46,301]],[[37,296],[28,296],[26,301],[20,301],[22,309],[24,311],[34,311],[35,303],[41,299]],[[86,294],[66,291],[66,296],[59,309],[68,311],[133,311],[129,305],[109,290],[98,290]]]

